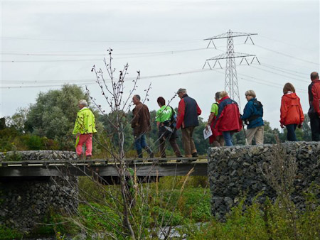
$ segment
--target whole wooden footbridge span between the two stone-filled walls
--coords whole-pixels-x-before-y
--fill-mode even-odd
[[[206,156],[197,158],[137,158],[124,159],[128,168],[132,168],[138,177],[208,175]],[[118,163],[119,164],[119,163]],[[117,163],[113,160],[27,160],[0,162],[0,180],[8,178],[48,178],[65,175],[100,177],[118,177]]]

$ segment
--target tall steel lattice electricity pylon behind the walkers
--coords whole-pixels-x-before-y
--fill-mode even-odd
[[[223,33],[218,36],[214,36],[212,38],[204,39],[204,40],[210,40],[207,46],[207,48],[209,48],[211,43],[215,47],[215,43],[213,43],[214,39],[227,38],[227,52],[220,54],[218,56],[215,56],[214,58],[207,59],[205,62],[205,65],[203,65],[203,68],[208,64],[208,66],[212,70],[212,68],[214,68],[217,63],[220,65],[219,60],[223,60],[223,59],[226,60],[225,91],[228,92],[231,99],[235,100],[235,102],[239,104],[239,107],[240,107],[240,94],[239,94],[239,87],[238,87],[237,69],[235,67],[235,58],[242,58],[240,65],[243,60],[247,62],[247,65],[250,65],[253,62],[253,60],[257,59],[257,57],[256,55],[247,54],[247,53],[236,53],[233,46],[233,38],[240,37],[240,36],[247,36],[245,43],[247,43],[247,40],[250,39],[252,44],[254,45],[255,43],[253,43],[253,40],[251,38],[252,35],[257,35],[257,33],[238,33],[238,32],[232,32],[231,30],[229,30],[227,33]],[[250,64],[247,61],[247,57],[253,57]],[[209,61],[212,61],[212,60],[215,60],[213,67],[211,67],[209,63]],[[259,60],[257,60],[257,62],[259,62]],[[223,67],[221,67],[220,65],[220,68],[223,68]]]

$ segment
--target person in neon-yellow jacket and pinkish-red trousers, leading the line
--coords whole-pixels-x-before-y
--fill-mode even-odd
[[[85,143],[86,151],[85,158],[90,160],[92,155],[92,133],[96,133],[95,130],[95,115],[87,108],[87,101],[81,99],[78,103],[79,111],[77,119],[75,119],[75,128],[73,134],[76,135],[75,151],[81,158],[83,156],[82,146]]]

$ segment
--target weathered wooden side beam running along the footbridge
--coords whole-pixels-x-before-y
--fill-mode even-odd
[[[34,163],[33,163],[34,164]],[[198,160],[191,163],[130,163],[129,168],[136,170],[137,176],[174,176],[186,175],[193,168],[191,175],[207,175],[208,162]],[[0,178],[8,177],[54,177],[64,175],[92,175],[118,176],[115,164],[103,165],[100,163],[58,163],[28,166],[8,166],[0,168]]]

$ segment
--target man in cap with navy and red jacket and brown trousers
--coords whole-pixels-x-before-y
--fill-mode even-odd
[[[195,99],[188,97],[185,88],[178,89],[177,94],[181,100],[178,104],[176,129],[181,128],[184,154],[186,158],[198,157],[192,134],[194,128],[199,125],[198,116],[201,114],[201,109]]]

